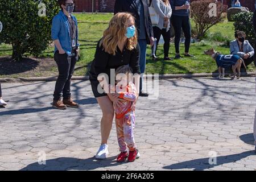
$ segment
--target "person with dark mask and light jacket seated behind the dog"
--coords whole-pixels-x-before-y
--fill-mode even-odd
[[[254,61],[254,48],[251,46],[248,40],[245,40],[246,34],[243,31],[235,32],[236,40],[230,43],[230,54],[240,56],[245,65],[251,64]],[[255,61],[254,61],[254,65]],[[243,64],[241,68],[244,68]]]

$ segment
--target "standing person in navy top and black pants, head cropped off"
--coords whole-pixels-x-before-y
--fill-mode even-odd
[[[180,35],[181,29],[185,36],[185,57],[194,57],[189,54],[189,47],[191,43],[191,23],[189,20],[189,0],[171,0],[172,17],[171,22],[175,31],[175,59],[181,59],[180,56]]]

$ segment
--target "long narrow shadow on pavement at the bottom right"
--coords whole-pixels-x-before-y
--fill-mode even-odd
[[[233,154],[226,156],[219,156],[216,158],[217,164],[209,164],[211,158],[195,159],[185,162],[180,162],[176,164],[171,164],[170,166],[163,167],[164,169],[193,169],[193,171],[203,171],[204,169],[210,169],[216,166],[221,166],[222,164],[228,164],[237,162],[238,160],[244,159],[247,156],[255,155],[254,150],[242,152],[241,154]]]

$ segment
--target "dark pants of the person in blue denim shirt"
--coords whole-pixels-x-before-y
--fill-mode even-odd
[[[71,77],[75,70],[77,57],[72,56],[68,58],[68,55],[66,53],[60,54],[59,51],[56,51],[54,55],[54,60],[56,61],[59,70],[59,76],[57,78],[55,91],[53,94],[53,100],[57,101],[60,100],[61,93],[63,93],[64,99],[71,97]]]

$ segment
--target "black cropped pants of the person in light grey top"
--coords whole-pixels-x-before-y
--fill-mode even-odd
[[[169,48],[170,48],[170,39],[171,39],[170,30],[166,31],[166,28],[163,28],[161,30],[160,28],[154,26],[153,31],[154,31],[154,37],[157,39],[156,40],[156,50],[158,49],[158,43],[159,43],[160,37],[161,37],[161,35],[163,35],[163,39],[164,39],[164,57],[168,57]]]

